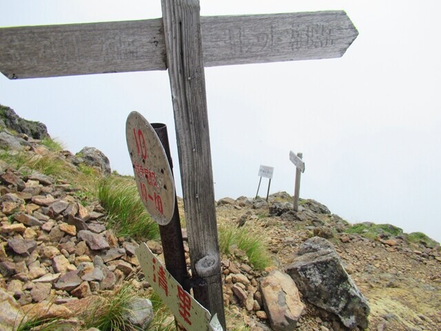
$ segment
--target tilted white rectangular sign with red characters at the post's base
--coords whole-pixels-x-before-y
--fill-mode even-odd
[[[145,279],[152,285],[152,288],[159,294],[185,330],[222,331],[220,324],[216,323],[216,315],[212,323],[217,325],[210,325],[209,311],[203,308],[187,291],[183,290],[178,281],[165,269],[145,243],[141,243],[135,252],[143,268]]]

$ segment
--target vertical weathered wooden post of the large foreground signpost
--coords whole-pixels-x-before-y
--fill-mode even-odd
[[[162,0],[194,298],[226,329],[198,0]]]

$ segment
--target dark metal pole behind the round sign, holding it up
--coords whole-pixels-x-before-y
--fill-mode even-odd
[[[158,135],[165,155],[167,155],[170,169],[173,172],[172,157],[170,156],[170,146],[168,143],[167,126],[163,123],[152,123],[154,131]],[[178,201],[174,196],[174,213],[172,220],[167,225],[159,225],[159,234],[163,244],[165,267],[172,276],[181,284],[184,290],[189,292],[189,279],[187,275],[187,264],[185,263],[185,252],[182,239],[181,221],[179,219]]]

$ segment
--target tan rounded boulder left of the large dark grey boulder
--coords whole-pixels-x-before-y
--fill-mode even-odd
[[[294,281],[287,274],[274,270],[260,281],[260,290],[271,329],[296,329],[305,305],[300,301]]]

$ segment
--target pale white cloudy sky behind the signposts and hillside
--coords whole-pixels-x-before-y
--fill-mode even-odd
[[[352,223],[392,223],[441,241],[441,1],[208,1],[202,15],[345,10],[359,36],[340,59],[205,69],[216,199],[294,194],[289,150],[306,163],[300,197]],[[161,1],[1,1],[0,26],[161,17]],[[1,42],[1,41],[0,41]],[[166,123],[182,194],[167,72],[10,81],[0,103],[41,121],[72,152],[94,146],[133,174],[125,119]],[[197,175],[197,174],[195,174]],[[263,180],[260,196],[266,194]]]

